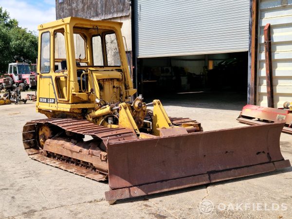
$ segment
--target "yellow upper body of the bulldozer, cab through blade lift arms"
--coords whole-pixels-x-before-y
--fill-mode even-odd
[[[131,73],[122,23],[64,18],[41,24],[38,47],[37,111],[49,118],[87,119],[110,128],[129,128],[144,138],[172,128],[161,102],[147,110],[131,102]],[[146,114],[153,113],[151,121]],[[149,114],[150,115],[150,114]],[[150,115],[151,116],[151,115]]]

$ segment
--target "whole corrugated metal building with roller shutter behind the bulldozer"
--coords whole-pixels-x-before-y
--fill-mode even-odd
[[[275,106],[292,101],[292,0],[56,0],[57,19],[69,16],[124,23],[139,88],[213,88],[213,80],[220,89],[244,88],[248,102],[262,106],[263,27],[270,22]],[[226,63],[236,66],[224,73],[219,67]]]

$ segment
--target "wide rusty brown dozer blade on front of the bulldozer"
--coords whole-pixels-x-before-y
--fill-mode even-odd
[[[108,144],[106,200],[119,200],[274,171],[284,123]]]

